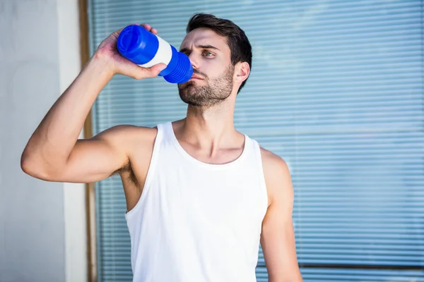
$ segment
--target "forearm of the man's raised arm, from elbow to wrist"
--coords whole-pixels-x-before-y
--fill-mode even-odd
[[[38,166],[52,167],[65,164],[95,99],[112,76],[106,61],[96,57],[90,59],[42,119],[21,161],[36,161]]]

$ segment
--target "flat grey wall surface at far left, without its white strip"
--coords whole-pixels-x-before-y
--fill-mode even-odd
[[[20,170],[59,93],[59,0],[0,0],[0,281],[65,281],[64,185]]]

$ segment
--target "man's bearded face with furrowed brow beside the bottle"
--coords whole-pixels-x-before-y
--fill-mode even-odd
[[[182,101],[210,107],[230,96],[234,66],[225,37],[197,28],[184,38],[180,51],[189,56],[194,68],[192,79],[178,85]]]

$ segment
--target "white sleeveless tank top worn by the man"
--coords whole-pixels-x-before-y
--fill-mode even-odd
[[[134,282],[254,282],[268,206],[261,152],[206,164],[158,125],[139,202],[127,212]]]

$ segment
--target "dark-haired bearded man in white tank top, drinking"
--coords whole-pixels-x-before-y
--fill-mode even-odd
[[[114,74],[153,78],[165,67],[124,59],[118,35],[99,45],[35,130],[23,171],[76,183],[119,173],[134,281],[256,281],[259,241],[270,282],[302,281],[288,167],[233,125],[235,99],[252,65],[245,32],[230,20],[194,15],[181,44],[194,74],[178,85],[187,117],[156,128],[119,125],[78,140]]]

